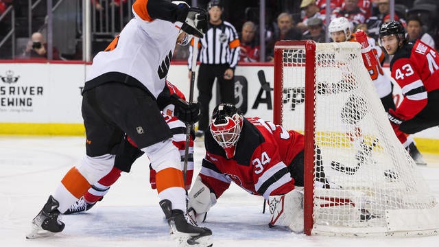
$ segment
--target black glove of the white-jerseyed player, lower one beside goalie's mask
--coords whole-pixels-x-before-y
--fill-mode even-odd
[[[200,120],[201,117],[201,105],[200,103],[185,102],[185,100],[178,97],[178,95],[171,95],[172,104],[174,104],[174,116],[176,116],[180,121],[186,124],[195,124]]]

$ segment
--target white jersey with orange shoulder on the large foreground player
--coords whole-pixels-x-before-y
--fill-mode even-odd
[[[141,8],[134,5],[132,12],[134,18],[119,36],[93,58],[85,89],[93,87],[93,84],[117,81],[143,85],[157,98],[165,88],[165,78],[182,23],[152,19],[146,4]]]

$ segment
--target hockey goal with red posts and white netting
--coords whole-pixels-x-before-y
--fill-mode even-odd
[[[305,133],[305,234],[437,235],[437,198],[396,139],[358,43],[277,42],[273,112]]]

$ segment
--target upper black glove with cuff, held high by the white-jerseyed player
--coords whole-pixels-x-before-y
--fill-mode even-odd
[[[184,1],[173,1],[178,7],[182,8],[177,21],[183,23],[181,30],[192,34],[198,38],[203,38],[207,31],[207,12],[201,8],[190,8]]]

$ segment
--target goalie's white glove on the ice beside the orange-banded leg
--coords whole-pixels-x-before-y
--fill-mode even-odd
[[[195,183],[189,193],[187,202],[187,213],[195,222],[204,222],[207,211],[217,203],[217,196],[211,193],[209,187],[202,183],[200,176],[195,179]]]

